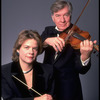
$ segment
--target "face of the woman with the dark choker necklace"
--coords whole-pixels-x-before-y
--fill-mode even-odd
[[[37,57],[38,44],[34,39],[27,39],[21,45],[19,52],[19,61],[22,64],[32,64]]]

